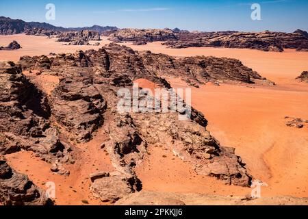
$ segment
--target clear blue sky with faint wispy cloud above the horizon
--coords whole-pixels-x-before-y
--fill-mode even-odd
[[[47,3],[55,5],[55,21],[45,18]],[[261,5],[261,21],[251,20],[252,3]],[[307,0],[1,0],[0,16],[62,27],[97,24],[201,31],[308,31]]]

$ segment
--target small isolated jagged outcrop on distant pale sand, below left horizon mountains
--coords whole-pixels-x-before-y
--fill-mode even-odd
[[[57,42],[69,42],[70,45],[86,45],[90,44],[90,40],[101,40],[97,31],[69,31],[59,34]]]

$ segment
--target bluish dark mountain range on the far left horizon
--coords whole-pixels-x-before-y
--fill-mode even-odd
[[[117,27],[102,27],[99,25],[94,25],[92,27],[56,27],[49,23],[40,23],[40,22],[25,22],[20,19],[11,19],[4,16],[0,16],[0,35],[10,35],[10,34],[21,34],[29,29],[47,29],[53,31],[81,31],[81,30],[92,30],[98,31],[101,34],[103,31],[114,31],[117,30]]]

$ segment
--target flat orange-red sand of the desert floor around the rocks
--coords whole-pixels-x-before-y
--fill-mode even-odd
[[[24,34],[0,36],[0,45],[6,46],[12,40],[20,43],[23,49],[0,51],[0,60],[16,62],[22,55],[71,53],[100,48],[64,46],[53,38]],[[103,38],[101,45],[106,43],[107,38]],[[207,129],[212,136],[224,146],[235,147],[235,153],[247,164],[248,172],[268,184],[268,187],[262,188],[262,196],[308,196],[308,129],[287,127],[284,119],[285,116],[308,119],[308,85],[295,80],[303,70],[308,70],[308,53],[293,50],[272,53],[249,49],[167,49],[160,42],[142,46],[125,45],[139,51],[149,50],[175,56],[232,57],[274,81],[276,86],[206,84],[201,88],[192,88],[192,105],[209,120]],[[187,87],[179,79],[167,79],[174,88]],[[140,84],[144,87],[153,86],[146,80],[140,81]],[[91,142],[76,146],[75,153],[80,160],[77,165],[68,166],[71,173],[69,177],[54,175],[49,171],[49,164],[28,152],[6,157],[12,167],[29,175],[42,188],[44,182],[55,181],[59,185],[56,188],[57,204],[82,204],[83,199],[90,204],[98,204],[97,200],[91,198],[88,174],[95,170],[113,169],[108,156],[96,152],[103,138],[106,136],[98,132]],[[188,164],[174,157],[168,148],[150,147],[149,151],[151,155],[136,170],[143,190],[226,196],[242,196],[251,192],[251,188],[224,185],[222,181],[197,175]]]

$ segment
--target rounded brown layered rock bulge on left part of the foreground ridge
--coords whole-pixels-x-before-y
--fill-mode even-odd
[[[51,110],[58,123],[75,133],[77,141],[90,140],[102,125],[106,103],[90,77],[62,79],[51,97]]]

